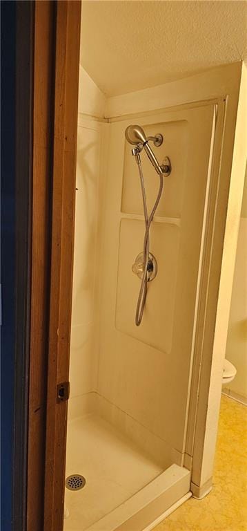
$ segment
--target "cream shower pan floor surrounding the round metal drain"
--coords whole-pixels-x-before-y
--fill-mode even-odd
[[[84,531],[163,472],[157,463],[96,415],[70,421],[66,476],[81,474],[83,489],[66,489],[70,513],[63,531]]]

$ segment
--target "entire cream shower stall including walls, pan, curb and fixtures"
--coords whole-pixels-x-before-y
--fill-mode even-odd
[[[149,531],[211,488],[229,68],[106,98],[80,66],[64,531]]]

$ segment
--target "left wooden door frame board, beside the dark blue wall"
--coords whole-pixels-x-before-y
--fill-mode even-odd
[[[43,530],[55,3],[34,4],[32,290],[27,530]]]

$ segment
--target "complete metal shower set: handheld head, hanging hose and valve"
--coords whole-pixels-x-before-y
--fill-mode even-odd
[[[153,280],[157,274],[157,261],[155,260],[155,257],[149,252],[149,229],[153,217],[155,216],[157,207],[159,205],[159,200],[161,198],[163,190],[163,177],[170,175],[172,167],[170,164],[170,159],[168,157],[164,158],[164,163],[159,165],[155,153],[152,151],[150,145],[148,144],[148,142],[153,142],[156,147],[161,146],[161,144],[163,143],[163,136],[161,134],[146,137],[144,130],[139,125],[129,125],[126,129],[125,136],[126,140],[128,140],[130,144],[135,146],[132,149],[132,155],[135,156],[135,160],[137,162],[139,170],[139,177],[141,181],[141,194],[144,205],[144,220],[146,226],[144,234],[144,252],[138,254],[137,258],[135,259],[135,263],[132,265],[132,272],[137,274],[139,279],[141,279],[141,286],[137,300],[137,310],[135,313],[135,324],[139,326],[141,324],[141,319],[144,315],[144,306],[148,291],[148,282]],[[148,216],[144,175],[141,167],[140,153],[142,149],[146,151],[150,162],[152,162],[152,165],[157,171],[157,174],[159,174],[159,192],[157,194],[155,205],[152,207],[150,216]]]

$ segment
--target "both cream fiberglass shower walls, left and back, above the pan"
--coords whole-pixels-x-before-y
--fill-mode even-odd
[[[124,137],[130,123],[148,136],[162,133],[155,154],[172,164],[150,230],[158,273],[139,328],[140,280],[132,263],[143,247],[144,217]],[[78,131],[69,416],[96,412],[164,469],[183,465],[215,105],[110,124],[80,115]],[[159,182],[143,154],[142,160],[150,211]]]

